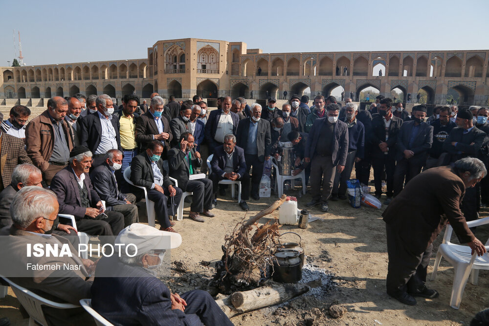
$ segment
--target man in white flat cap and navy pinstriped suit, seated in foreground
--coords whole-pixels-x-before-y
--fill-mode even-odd
[[[165,250],[181,244],[178,233],[133,223],[119,233],[115,243],[121,245],[121,257],[102,258],[91,287],[93,309],[109,322],[233,325],[206,291],[192,290],[180,297],[156,277],[155,269],[162,264]]]

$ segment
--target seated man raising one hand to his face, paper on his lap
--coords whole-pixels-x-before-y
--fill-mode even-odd
[[[188,217],[197,222],[203,222],[199,213],[214,217],[212,209],[212,181],[207,178],[190,180],[192,174],[199,174],[197,168],[202,165],[200,153],[195,150],[194,136],[184,132],[180,142],[168,152],[168,167],[170,176],[178,181],[178,188],[193,193],[192,204]]]

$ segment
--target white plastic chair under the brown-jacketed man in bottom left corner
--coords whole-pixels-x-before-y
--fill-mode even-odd
[[[43,297],[35,294],[34,292],[27,290],[26,288],[13,283],[9,279],[2,277],[7,283],[12,287],[15,296],[20,301],[24,309],[29,314],[29,326],[35,326],[36,322],[41,325],[47,326],[47,321],[44,317],[44,312],[42,309],[43,305],[58,308],[58,309],[72,309],[78,308],[79,305],[74,304],[60,304],[51,300],[44,299]]]

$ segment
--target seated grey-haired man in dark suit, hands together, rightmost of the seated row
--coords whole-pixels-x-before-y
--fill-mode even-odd
[[[232,133],[224,136],[224,145],[216,147],[211,161],[212,173],[209,178],[213,182],[214,205],[217,205],[217,188],[221,180],[241,181],[240,207],[248,211],[246,203],[249,196],[249,174],[246,173],[244,150],[236,146],[236,136]],[[234,187],[234,185],[232,185]]]

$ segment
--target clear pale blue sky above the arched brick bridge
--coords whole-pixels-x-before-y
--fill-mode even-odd
[[[140,59],[157,40],[268,52],[488,49],[488,0],[0,0],[0,65]],[[16,33],[14,52],[13,33]]]

